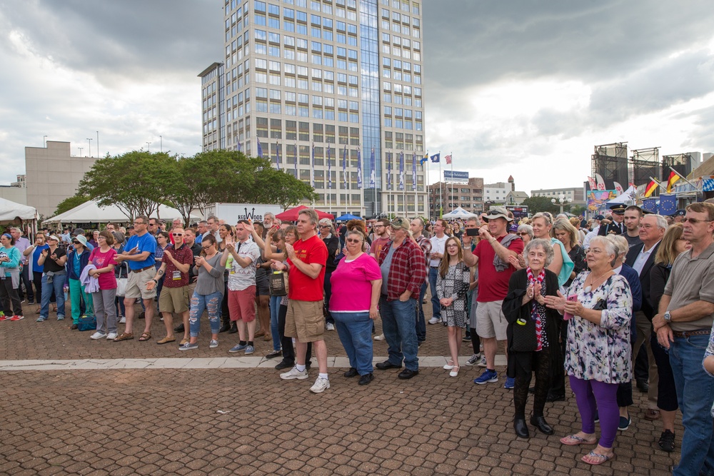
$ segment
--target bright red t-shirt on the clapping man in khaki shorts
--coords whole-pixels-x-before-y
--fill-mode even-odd
[[[297,240],[293,243],[293,249],[299,260],[306,264],[322,265],[320,275],[313,279],[303,273],[288,258],[290,271],[288,273],[288,299],[301,301],[318,301],[323,299],[323,287],[325,282],[325,263],[327,263],[327,246],[317,235],[311,236],[307,240]]]

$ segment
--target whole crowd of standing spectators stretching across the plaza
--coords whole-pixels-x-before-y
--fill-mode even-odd
[[[263,337],[272,341],[266,358],[281,358],[283,380],[307,379],[314,355],[310,390],[321,393],[330,388],[324,335],[331,330],[350,363],[343,376],[359,376],[358,385],[374,379],[373,340],[388,345],[377,370],[399,370],[403,380],[418,375],[430,288],[428,324],[447,328],[451,378],[464,341],[473,349],[465,364],[483,368],[473,382],[498,383],[503,345],[518,437],[531,436],[529,393],[530,424],[553,435],[545,404],[565,400],[567,376],[580,428],[560,442],[595,445],[582,460],[602,464],[633,420],[634,382],[648,394],[643,417],[661,421],[661,450],[675,450],[682,412],[674,474],[712,474],[713,233],[712,203],[692,203],[671,217],[614,206],[591,221],[550,213],[516,221],[502,207],[463,223],[396,217],[336,226],[310,208],[296,223],[268,213],[235,226],[214,216],[193,227],[137,216],[127,228],[109,223],[89,239],[76,229],[36,233],[34,243],[12,228],[0,238],[0,320],[21,320],[23,302],[38,303],[38,322],[51,305],[64,320],[69,295],[70,327],[96,318],[94,340],[134,339],[141,318],[138,340],[151,340],[158,312],[166,335],[156,343],[178,340],[178,350],[188,351],[204,345],[206,311],[209,348],[218,348],[221,333],[237,333],[228,352],[250,355]]]

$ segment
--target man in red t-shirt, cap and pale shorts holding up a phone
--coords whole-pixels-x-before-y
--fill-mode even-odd
[[[503,316],[501,305],[508,294],[508,281],[516,270],[508,261],[508,256],[523,253],[523,240],[518,235],[508,234],[508,216],[504,207],[494,207],[483,216],[486,225],[478,231],[481,241],[471,252],[471,236],[463,235],[463,260],[468,266],[478,263],[478,307],[476,308],[476,332],[483,342],[486,355],[486,370],[473,383],[498,382],[496,373],[496,350],[498,340],[506,340],[508,323]],[[496,259],[498,258],[498,259]],[[508,349],[506,349],[508,354]],[[506,378],[506,388],[513,388],[513,379]]]

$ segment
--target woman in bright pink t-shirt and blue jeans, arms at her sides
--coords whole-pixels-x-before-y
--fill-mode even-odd
[[[350,359],[345,377],[360,375],[359,385],[367,385],[372,375],[372,320],[379,315],[377,303],[382,273],[376,260],[363,252],[365,236],[348,231],[347,252],[332,272],[330,312],[342,345]]]

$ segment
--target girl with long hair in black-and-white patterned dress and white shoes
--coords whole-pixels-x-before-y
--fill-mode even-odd
[[[463,263],[461,241],[452,236],[444,243],[446,254],[441,258],[436,276],[436,295],[441,304],[441,318],[448,329],[451,360],[444,365],[449,375],[458,375],[458,353],[461,350],[461,329],[466,328],[466,291],[471,284],[471,270]]]

